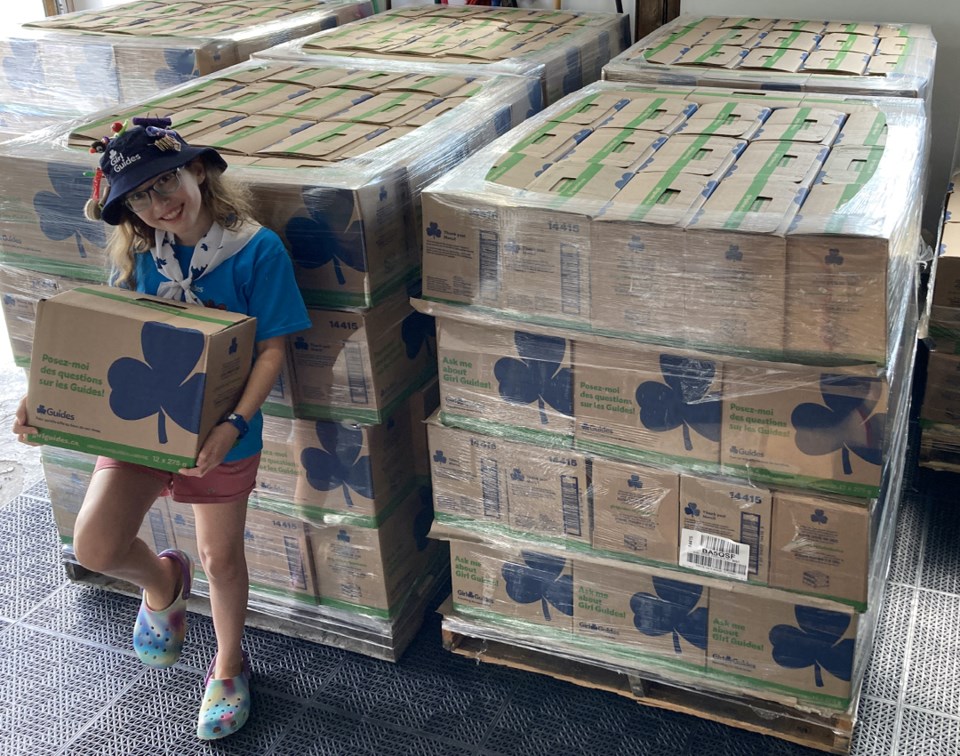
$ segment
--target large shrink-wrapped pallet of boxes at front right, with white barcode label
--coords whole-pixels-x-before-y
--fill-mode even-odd
[[[424,191],[451,649],[849,748],[927,128],[907,97],[603,82]]]

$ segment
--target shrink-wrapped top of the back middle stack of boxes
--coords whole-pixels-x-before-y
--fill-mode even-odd
[[[555,102],[597,81],[630,44],[630,20],[613,13],[420,5],[265,50],[286,60],[403,60],[436,73],[535,77]],[[329,62],[329,61],[328,61]]]

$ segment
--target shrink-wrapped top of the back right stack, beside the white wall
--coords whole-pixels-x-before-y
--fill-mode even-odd
[[[610,61],[603,78],[917,97],[929,107],[936,52],[922,24],[685,14]]]

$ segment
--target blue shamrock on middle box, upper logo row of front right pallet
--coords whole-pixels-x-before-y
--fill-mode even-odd
[[[720,440],[721,403],[708,395],[716,363],[670,354],[660,355],[664,383],[646,381],[637,388],[640,422],[657,433],[683,428],[683,446],[693,450],[690,428],[710,441]]]

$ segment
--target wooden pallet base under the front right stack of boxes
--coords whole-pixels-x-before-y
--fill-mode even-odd
[[[442,635],[444,648],[476,661],[548,675],[581,687],[616,693],[643,706],[689,714],[828,753],[850,752],[852,715],[815,714],[760,699],[732,699],[691,690],[566,656],[466,635],[449,629],[446,623]]]

